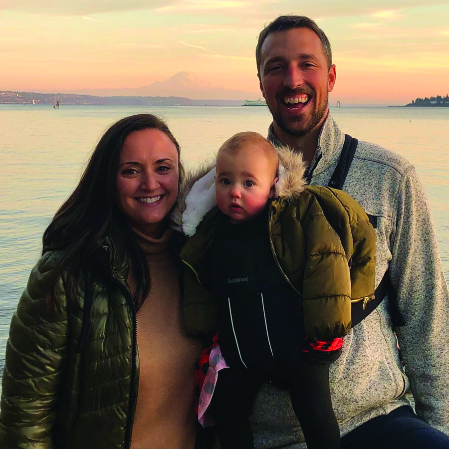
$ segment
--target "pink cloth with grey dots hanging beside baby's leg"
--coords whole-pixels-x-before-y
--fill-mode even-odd
[[[198,406],[198,421],[203,427],[215,426],[214,418],[208,411],[211,404],[212,395],[217,385],[218,373],[220,370],[229,368],[223,358],[220,345],[217,345],[209,356],[209,369],[203,383],[200,393],[200,401]]]

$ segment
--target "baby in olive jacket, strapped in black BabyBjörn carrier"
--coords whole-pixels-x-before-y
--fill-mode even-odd
[[[219,334],[200,361],[210,354],[199,408],[223,449],[253,448],[249,415],[264,381],[289,391],[309,449],[340,447],[329,365],[351,300],[373,297],[376,237],[353,199],[305,186],[303,174],[300,155],[239,133],[219,150],[215,182],[209,173],[186,200],[183,314],[192,335]],[[217,207],[205,199],[214,184]],[[192,227],[198,205],[211,210]]]

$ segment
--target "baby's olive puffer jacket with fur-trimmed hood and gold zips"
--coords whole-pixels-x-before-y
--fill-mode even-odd
[[[363,209],[346,193],[305,186],[299,155],[282,149],[279,159],[282,173],[267,217],[272,255],[303,301],[307,335],[315,339],[343,336],[351,328],[351,302],[374,298],[375,231]],[[226,217],[217,207],[201,210],[201,205],[212,204],[202,192],[214,191],[211,172],[202,175],[196,176],[200,190],[191,181],[194,195],[181,203],[185,210],[178,212],[177,219],[182,218],[184,230],[192,235],[181,252],[186,265],[184,320],[190,334],[208,338],[217,332],[218,300],[202,285],[208,248],[216,226]]]

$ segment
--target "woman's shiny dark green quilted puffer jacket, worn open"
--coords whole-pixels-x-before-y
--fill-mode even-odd
[[[48,311],[48,279],[60,256],[40,258],[12,317],[0,448],[129,448],[139,370],[127,257],[106,239],[91,291],[80,286],[78,304],[68,304],[60,280]]]

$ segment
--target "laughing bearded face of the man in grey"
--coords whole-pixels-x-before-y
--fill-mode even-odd
[[[304,136],[326,116],[335,83],[318,36],[308,28],[276,31],[261,49],[260,90],[274,122],[286,134]]]

